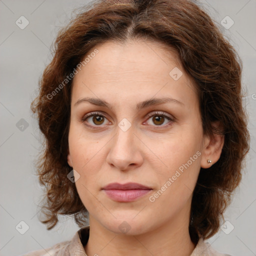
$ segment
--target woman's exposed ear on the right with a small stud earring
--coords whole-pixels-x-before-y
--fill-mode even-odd
[[[220,122],[215,121],[212,123],[212,126],[219,129]],[[219,159],[223,144],[224,144],[224,135],[222,134],[213,133],[212,137],[204,135],[202,157],[201,157],[202,168],[209,168],[212,164],[214,164]],[[211,160],[211,162],[208,163],[207,160]]]

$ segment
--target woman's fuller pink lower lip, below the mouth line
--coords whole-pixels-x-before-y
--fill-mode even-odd
[[[130,190],[120,190],[120,189],[107,189],[105,193],[111,199],[119,202],[130,202],[135,199],[147,194],[151,189],[130,189]]]

